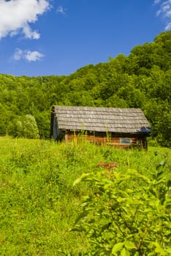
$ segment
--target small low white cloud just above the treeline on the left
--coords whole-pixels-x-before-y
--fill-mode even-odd
[[[31,50],[21,50],[21,49],[16,49],[13,59],[15,61],[20,61],[20,59],[25,59],[26,61],[39,61],[42,59],[44,55],[42,53],[39,53],[37,50],[31,51]]]

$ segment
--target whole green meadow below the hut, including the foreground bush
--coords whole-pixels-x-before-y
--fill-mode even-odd
[[[100,162],[115,162],[116,166],[105,169],[102,165],[97,166]],[[137,178],[134,179],[135,176]],[[55,143],[51,140],[1,137],[0,255],[170,255],[170,180],[169,148],[149,146],[148,151],[138,151],[77,141]],[[137,196],[141,192],[140,187],[148,195],[145,200]],[[122,189],[125,192],[128,189],[126,195]],[[161,222],[148,219],[144,224],[138,219],[139,216],[142,218],[139,211],[134,228],[140,227],[140,243],[136,240],[137,235],[132,235],[133,225],[119,236],[117,234],[121,230],[115,233],[114,224],[113,229],[103,228],[98,236],[94,235],[101,228],[101,222],[106,224],[107,219],[113,216],[110,223],[114,223],[115,217],[119,218],[118,211],[114,216],[114,210],[110,208],[114,191],[121,192],[117,198],[125,198],[124,208],[122,201],[115,199],[120,215],[123,212],[127,218],[132,214],[134,203],[131,206],[132,202],[126,198],[133,195],[133,190],[134,198],[139,198],[136,202],[140,208],[144,205],[149,208],[146,215],[153,219],[157,211],[156,218],[159,217]],[[97,197],[100,198],[98,202],[94,201]],[[149,200],[154,202],[151,209]],[[105,206],[102,211],[99,211],[102,206],[99,202]],[[159,208],[156,209],[157,202]],[[82,215],[77,219],[79,214]],[[136,214],[134,211],[133,215]],[[133,223],[134,219],[125,222],[122,219],[120,226]],[[121,219],[116,220],[120,222]],[[156,227],[153,237],[151,234],[155,228],[150,230],[150,226],[154,227],[155,222],[160,226]],[[126,230],[126,226],[123,228]],[[158,241],[161,233],[162,238]],[[153,244],[154,240],[158,244]]]

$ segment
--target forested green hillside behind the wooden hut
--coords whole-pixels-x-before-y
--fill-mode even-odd
[[[88,65],[68,76],[0,75],[0,135],[49,138],[52,105],[141,108],[153,138],[171,146],[171,31],[129,56]],[[35,119],[34,119],[35,118]],[[27,127],[34,132],[26,132]],[[38,129],[37,129],[38,127]]]

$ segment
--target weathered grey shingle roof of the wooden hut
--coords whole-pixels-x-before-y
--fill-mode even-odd
[[[53,106],[58,129],[94,132],[149,133],[151,126],[140,108]]]

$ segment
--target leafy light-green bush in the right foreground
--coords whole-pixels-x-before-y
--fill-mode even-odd
[[[91,243],[91,252],[83,255],[170,255],[171,166],[165,165],[167,159],[151,177],[128,169],[77,178],[74,186],[87,181],[95,187],[94,195],[83,197],[72,228]]]

